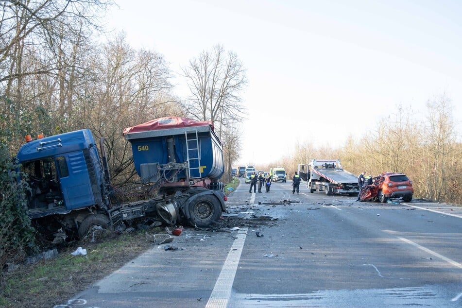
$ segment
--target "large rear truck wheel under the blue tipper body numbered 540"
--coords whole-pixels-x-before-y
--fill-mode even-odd
[[[193,226],[206,228],[218,222],[222,215],[220,201],[212,195],[200,197],[196,203],[189,205],[189,222]]]

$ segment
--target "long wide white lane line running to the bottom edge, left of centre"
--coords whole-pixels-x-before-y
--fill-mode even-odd
[[[217,308],[228,306],[229,298],[231,297],[231,288],[233,287],[234,277],[238,269],[240,254],[244,247],[245,238],[247,236],[247,228],[242,228],[238,232],[238,238],[234,240],[231,246],[228,257],[224,261],[222,271],[218,276],[215,287],[212,290],[212,294],[208,299],[206,308]]]

